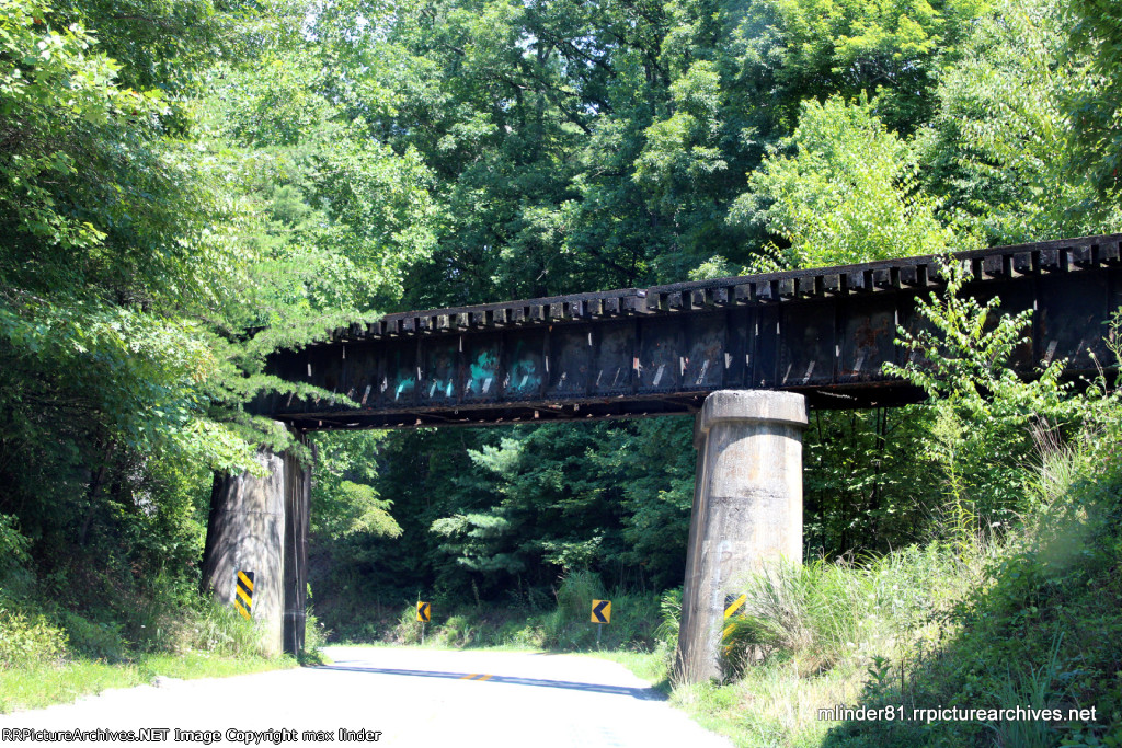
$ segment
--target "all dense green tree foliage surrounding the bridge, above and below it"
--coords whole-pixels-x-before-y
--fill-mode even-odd
[[[0,0],[0,627],[191,646],[263,361],[342,320],[1118,230],[1119,49],[1105,0]],[[934,405],[812,415],[809,556],[1009,532],[1086,433],[947,303]],[[672,588],[690,434],[319,435],[315,604]]]

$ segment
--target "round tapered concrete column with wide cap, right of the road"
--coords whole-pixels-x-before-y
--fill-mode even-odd
[[[675,676],[720,677],[726,595],[770,560],[802,560],[802,395],[721,390],[693,426],[698,450]]]

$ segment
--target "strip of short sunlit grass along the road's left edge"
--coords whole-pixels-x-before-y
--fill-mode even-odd
[[[194,680],[249,675],[296,667],[292,657],[215,655],[191,652],[145,655],[134,662],[108,664],[75,659],[61,665],[35,664],[0,671],[0,713],[63,704],[109,689],[150,684],[157,676]]]

